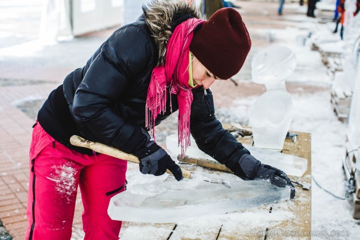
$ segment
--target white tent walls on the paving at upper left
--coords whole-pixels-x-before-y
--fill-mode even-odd
[[[123,23],[124,0],[46,0],[40,38],[79,36]]]

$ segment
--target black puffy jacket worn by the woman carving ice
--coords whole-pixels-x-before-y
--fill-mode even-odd
[[[177,14],[173,13],[169,25],[174,28],[183,20],[198,17],[193,11],[187,5],[184,9],[177,6],[174,10]],[[144,147],[146,94],[163,48],[145,22],[149,11],[145,9],[144,13],[144,18],[115,31],[83,68],[69,74],[63,85],[49,95],[38,113],[38,121],[54,139],[89,155],[92,154],[89,149],[70,144],[71,135],[78,134],[128,153]],[[193,89],[193,96],[190,128],[198,147],[236,170],[241,156],[249,151],[216,119],[210,90]],[[172,110],[178,110],[176,95],[169,96],[167,111],[157,117],[156,124],[170,115],[170,100]],[[236,171],[246,178],[241,169]]]

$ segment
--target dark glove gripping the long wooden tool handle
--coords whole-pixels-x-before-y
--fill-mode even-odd
[[[165,173],[166,169],[169,169],[176,180],[183,179],[180,166],[154,141],[148,141],[146,147],[133,154],[139,158],[141,173],[160,176]]]

